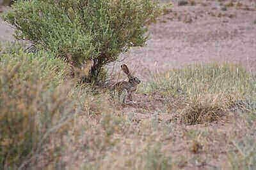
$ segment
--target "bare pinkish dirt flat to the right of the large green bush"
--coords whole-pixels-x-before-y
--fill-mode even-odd
[[[150,26],[147,46],[128,54],[129,66],[148,80],[148,71],[164,71],[195,62],[242,63],[249,71],[256,66],[256,1],[237,7],[230,1],[173,3],[168,14]]]

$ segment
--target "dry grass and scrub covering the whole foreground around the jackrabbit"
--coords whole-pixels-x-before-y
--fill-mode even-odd
[[[123,104],[66,56],[26,47],[1,43],[0,169],[256,168],[256,74],[242,64],[148,70]]]

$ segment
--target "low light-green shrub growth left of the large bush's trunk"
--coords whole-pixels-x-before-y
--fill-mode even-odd
[[[33,78],[36,76],[38,80],[44,80],[47,76],[51,76],[51,81],[48,85],[60,85],[65,76],[68,74],[68,66],[61,59],[54,59],[49,52],[40,51],[34,53],[24,53],[22,49],[24,45],[20,43],[7,43],[3,45],[3,50],[0,53],[0,67],[13,67],[20,63],[21,67],[16,76],[20,78],[19,81],[28,79],[27,76]],[[30,74],[27,72],[31,71]]]

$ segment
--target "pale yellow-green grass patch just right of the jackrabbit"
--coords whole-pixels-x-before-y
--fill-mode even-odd
[[[164,96],[170,114],[192,125],[220,120],[236,101],[254,101],[255,82],[255,76],[240,66],[198,64],[156,76],[143,91]]]

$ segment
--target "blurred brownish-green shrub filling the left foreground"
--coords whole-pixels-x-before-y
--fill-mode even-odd
[[[72,119],[69,87],[60,86],[65,63],[23,52],[0,59],[0,169],[44,167],[58,159],[51,137],[61,139]]]

